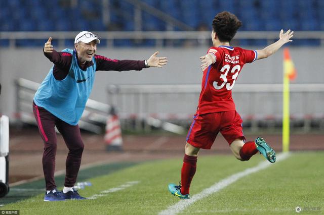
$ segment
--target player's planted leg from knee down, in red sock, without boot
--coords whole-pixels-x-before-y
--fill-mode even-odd
[[[183,195],[189,193],[190,184],[197,168],[199,148],[186,143],[184,149],[183,165],[181,169],[181,190]]]

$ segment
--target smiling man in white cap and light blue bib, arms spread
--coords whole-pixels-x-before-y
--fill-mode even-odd
[[[167,64],[167,58],[157,57],[158,52],[145,61],[119,61],[96,55],[100,40],[97,35],[88,31],[76,35],[74,50],[66,48],[57,52],[51,41],[52,37],[45,43],[44,55],[54,65],[33,99],[34,116],[44,141],[43,170],[47,190],[44,201],[85,199],[73,189],[84,150],[78,121],[91,93],[96,71],[163,67]],[[54,181],[57,144],[55,126],[69,149],[64,188],[61,192],[57,190]]]

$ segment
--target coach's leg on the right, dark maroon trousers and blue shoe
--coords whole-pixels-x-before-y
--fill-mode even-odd
[[[62,134],[64,142],[69,149],[66,158],[66,174],[63,188],[63,195],[66,199],[85,199],[73,189],[76,183],[77,174],[81,165],[84,143],[81,139],[80,129],[78,125],[70,125],[66,122],[58,120],[56,127]]]

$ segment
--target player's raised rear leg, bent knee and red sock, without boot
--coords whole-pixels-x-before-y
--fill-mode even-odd
[[[241,161],[249,160],[258,152],[254,141],[244,143],[244,141],[241,139],[235,139],[231,143],[230,148],[234,156]]]

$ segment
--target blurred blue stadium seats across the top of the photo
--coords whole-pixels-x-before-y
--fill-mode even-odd
[[[110,0],[108,17],[101,0],[0,1],[0,31],[165,31],[182,30],[154,16],[141,13],[128,1]],[[242,21],[240,30],[324,30],[323,0],[142,0],[150,7],[178,19],[194,30],[211,30],[216,13],[230,11]],[[108,18],[108,19],[107,19]],[[106,20],[104,20],[106,19]],[[107,24],[108,23],[108,24]],[[248,41],[245,41],[249,43]],[[3,42],[2,42],[3,43]]]

